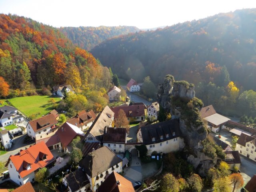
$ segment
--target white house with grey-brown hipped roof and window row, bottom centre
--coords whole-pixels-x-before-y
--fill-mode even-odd
[[[108,147],[103,146],[85,156],[80,161],[79,167],[84,170],[90,181],[90,190],[95,192],[113,171],[122,172],[122,159]]]

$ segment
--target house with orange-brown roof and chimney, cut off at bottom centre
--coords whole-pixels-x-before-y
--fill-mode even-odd
[[[135,190],[132,182],[113,171],[100,185],[97,192],[135,192]]]

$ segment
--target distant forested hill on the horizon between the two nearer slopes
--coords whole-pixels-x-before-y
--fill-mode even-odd
[[[91,50],[94,46],[112,37],[126,35],[139,31],[133,26],[116,26],[116,27],[62,27],[63,32],[74,44],[83,49]]]

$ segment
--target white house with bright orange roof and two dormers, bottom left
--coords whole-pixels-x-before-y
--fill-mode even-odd
[[[6,163],[10,179],[18,185],[34,182],[35,171],[53,164],[54,157],[46,144],[40,142],[11,155]]]

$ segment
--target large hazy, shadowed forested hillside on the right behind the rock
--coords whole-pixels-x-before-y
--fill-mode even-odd
[[[245,9],[113,38],[92,54],[119,77],[142,82],[150,76],[158,84],[172,74],[194,83],[205,105],[214,104],[224,114],[255,116],[256,98],[248,101],[252,93],[240,98],[243,91],[256,90],[255,40],[256,9]]]

